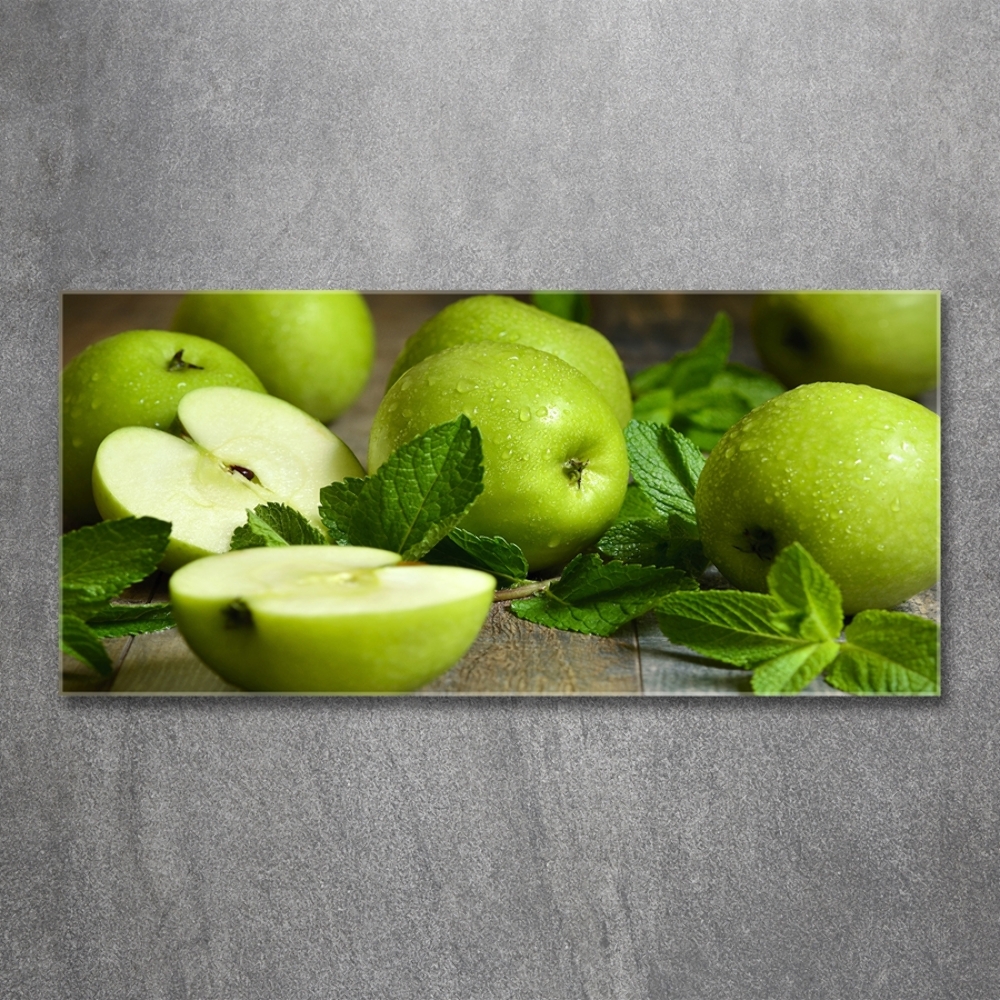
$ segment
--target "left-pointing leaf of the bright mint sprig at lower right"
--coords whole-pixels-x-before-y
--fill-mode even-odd
[[[674,643],[737,667],[749,667],[804,645],[775,625],[781,604],[769,594],[739,590],[671,594],[657,607]]]

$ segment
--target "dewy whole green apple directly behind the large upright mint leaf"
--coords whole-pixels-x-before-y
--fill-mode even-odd
[[[483,492],[464,528],[514,542],[540,569],[575,555],[614,520],[628,484],[617,418],[585,375],[523,344],[462,344],[404,372],[375,414],[369,471],[461,413],[483,439]]]

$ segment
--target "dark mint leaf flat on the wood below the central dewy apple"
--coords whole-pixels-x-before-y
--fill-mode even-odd
[[[511,610],[539,625],[608,636],[665,594],[696,586],[678,569],[604,563],[591,553],[573,559],[548,590],[512,601]]]

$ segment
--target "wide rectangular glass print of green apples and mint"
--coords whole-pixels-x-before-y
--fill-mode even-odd
[[[73,695],[940,692],[940,296],[66,293]]]

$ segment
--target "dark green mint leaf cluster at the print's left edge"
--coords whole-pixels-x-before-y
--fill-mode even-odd
[[[103,638],[171,628],[169,604],[113,604],[122,591],[156,570],[170,541],[170,523],[126,517],[63,535],[59,646],[102,676],[111,673]]]

